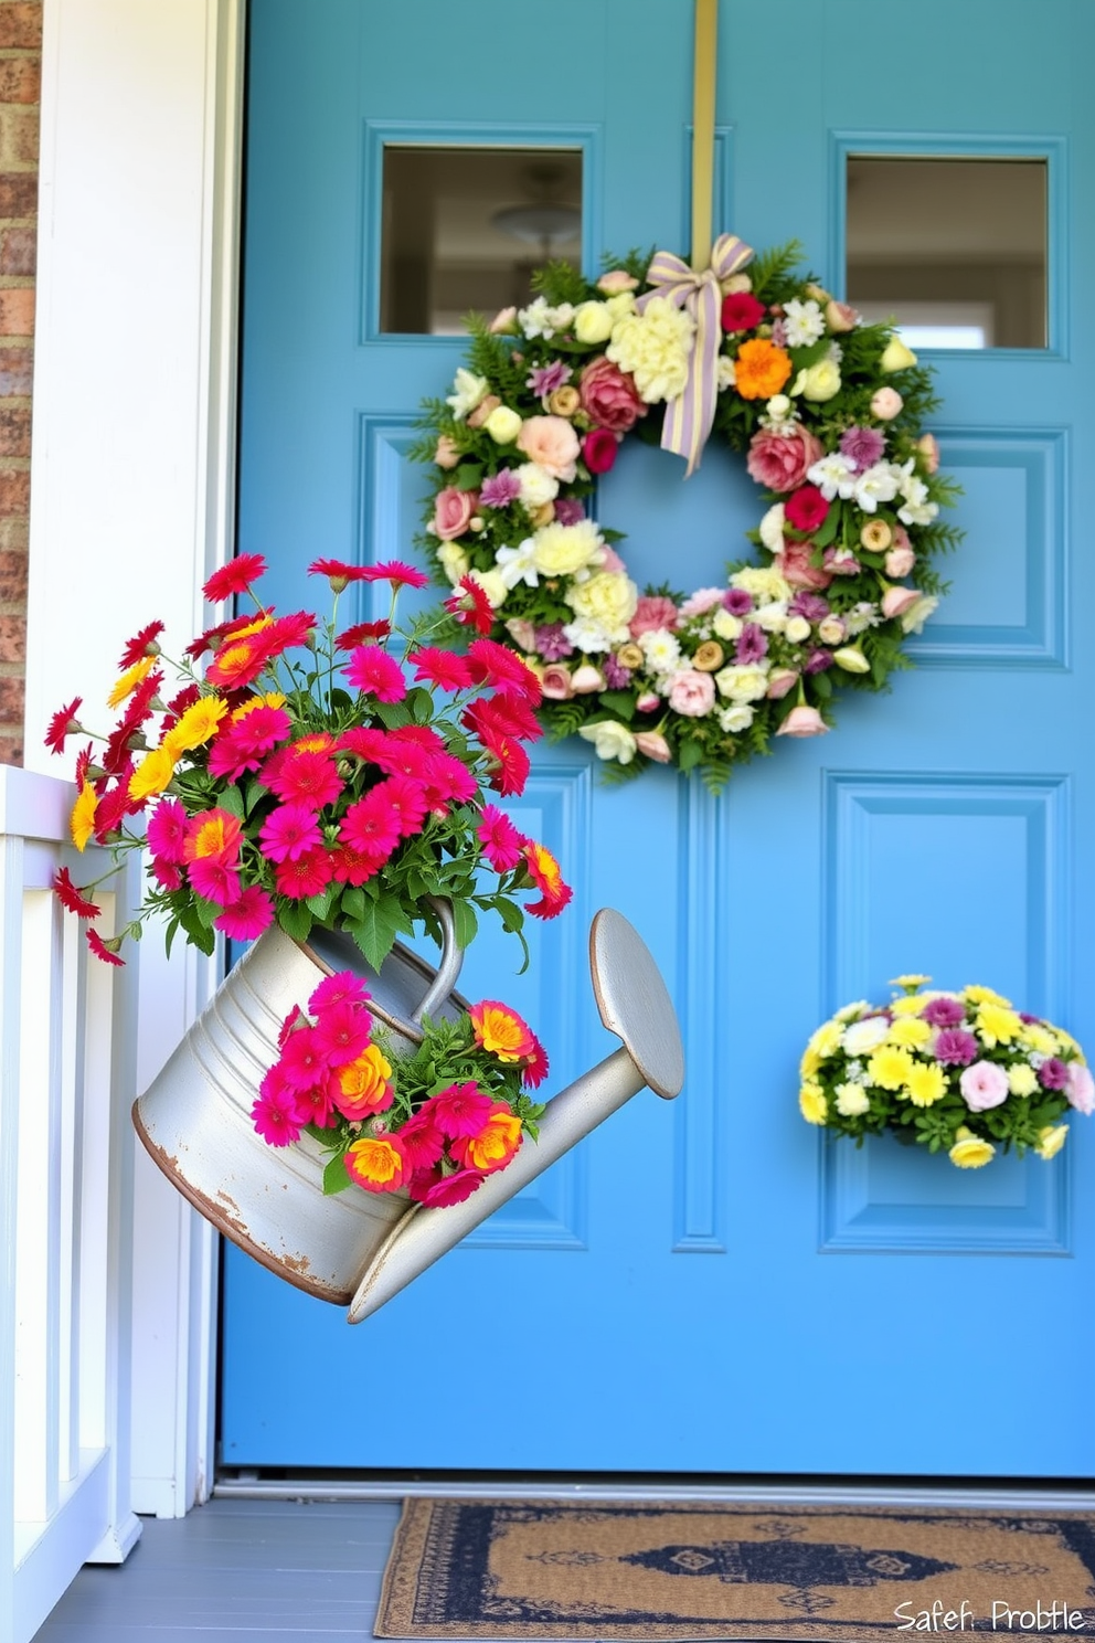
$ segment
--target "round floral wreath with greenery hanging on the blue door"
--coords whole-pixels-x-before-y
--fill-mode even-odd
[[[960,532],[921,432],[931,373],[798,255],[722,235],[703,274],[667,251],[596,281],[550,263],[527,307],[470,317],[453,393],[425,403],[414,455],[440,483],[420,545],[538,675],[552,734],[591,741],[606,774],[676,764],[719,789],[772,736],[822,734],[834,685],[885,688],[946,591],[931,559]],[[711,432],[747,452],[768,557],[640,591],[589,516],[596,480],[630,434],[691,473]]]

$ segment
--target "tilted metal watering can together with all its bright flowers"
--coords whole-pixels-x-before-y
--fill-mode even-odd
[[[205,585],[253,593],[250,554]],[[95,928],[95,886],[54,881],[87,940],[120,964],[149,914],[205,953],[215,932],[253,946],[135,1104],[144,1147],[227,1237],[358,1321],[456,1244],[617,1106],[650,1084],[675,1096],[673,1007],[630,925],[591,930],[602,1022],[624,1048],[547,1106],[529,1091],[547,1053],[501,1001],[455,991],[478,917],[520,935],[525,914],[570,902],[553,856],[484,795],[522,792],[540,687],[486,636],[473,582],[445,613],[394,624],[399,562],[317,560],[332,619],[277,618],[256,600],[202,634],[163,697],[161,623],[126,644],[113,731],[77,754],[72,838],[120,863],[148,849],[149,889],[115,937]],[[351,580],[386,580],[389,618],[338,633]],[[447,644],[476,628],[466,651]],[[404,652],[389,649],[396,634]],[[210,657],[204,679],[197,664]],[[89,736],[80,700],[48,743]],[[493,876],[493,882],[489,879]],[[522,891],[538,891],[522,907]],[[399,943],[424,930],[437,968]]]

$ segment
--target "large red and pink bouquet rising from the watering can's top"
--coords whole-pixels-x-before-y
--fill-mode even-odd
[[[131,851],[149,853],[144,900],[107,938],[94,900],[103,881],[77,886],[67,868],[57,872],[56,894],[89,922],[92,951],[123,963],[120,948],[149,915],[166,920],[167,946],[182,930],[204,953],[217,932],[246,941],[276,922],[297,941],[314,925],[346,932],[379,971],[399,935],[425,927],[440,938],[435,900],[451,905],[460,948],[481,912],[522,941],[525,914],[560,914],[571,891],[558,863],[488,797],[524,790],[525,743],[542,734],[540,685],[481,631],[451,647],[461,626],[483,624],[478,590],[397,628],[399,590],[424,587],[422,572],[318,559],[309,572],[333,593],[320,623],[268,608],[254,593],[264,570],[259,554],[243,554],[208,578],[212,603],[251,596],[254,610],[187,646],[172,664],[174,692],[164,624],[153,621],[125,644],[108,734],[85,729],[79,697],[53,716],[54,752],[87,738],[76,757],[77,849],[105,846],[112,871]],[[340,628],[351,582],[389,583],[384,619]],[[522,907],[524,891],[538,895]]]

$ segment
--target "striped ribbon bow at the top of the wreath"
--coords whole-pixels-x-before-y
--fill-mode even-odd
[[[722,281],[750,263],[754,250],[735,233],[721,233],[711,251],[711,268],[696,273],[673,251],[655,251],[645,291],[637,302],[642,311],[652,297],[668,297],[673,307],[685,307],[696,320],[696,340],[688,361],[688,380],[676,399],[665,407],[662,450],[673,450],[688,462],[685,478],[699,467],[703,447],[714,424],[719,398],[719,343],[722,342]]]

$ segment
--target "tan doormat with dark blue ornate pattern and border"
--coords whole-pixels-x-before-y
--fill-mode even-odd
[[[409,1500],[379,1638],[1095,1636],[1095,1515]]]

